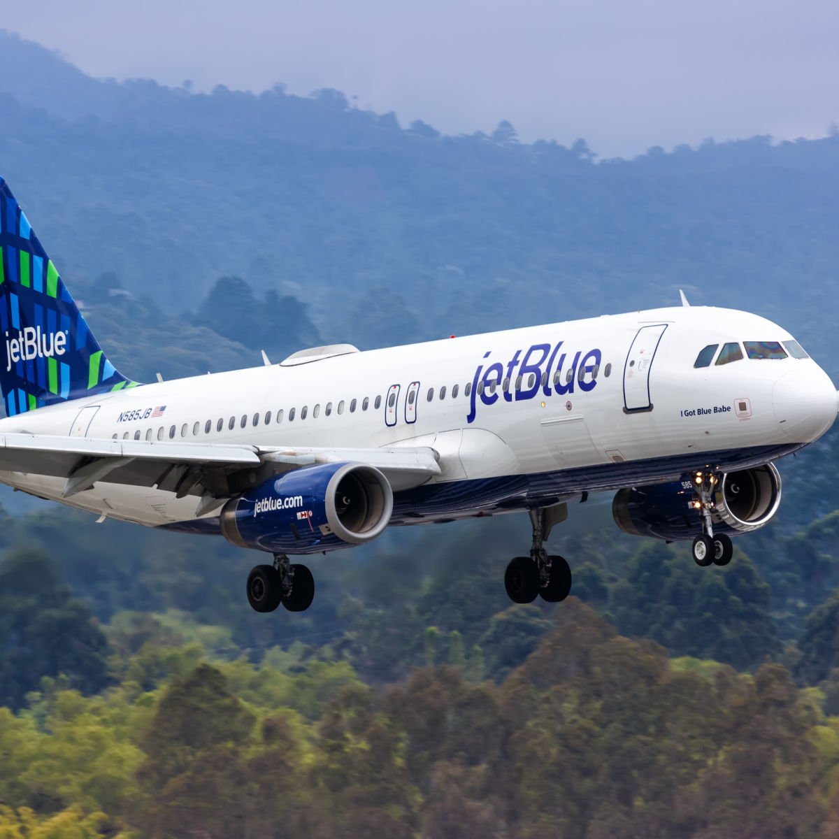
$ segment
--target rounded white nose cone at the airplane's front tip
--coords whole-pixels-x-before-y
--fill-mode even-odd
[[[784,437],[807,443],[833,425],[839,394],[827,374],[813,364],[784,373],[774,384],[772,404]]]

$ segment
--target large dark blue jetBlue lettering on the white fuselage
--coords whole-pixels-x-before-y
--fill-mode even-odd
[[[469,393],[469,414],[466,422],[472,423],[477,416],[480,401],[492,405],[503,399],[505,402],[521,402],[534,399],[541,392],[549,397],[556,393],[565,396],[574,393],[576,383],[581,391],[593,390],[597,385],[597,369],[602,352],[589,350],[565,351],[559,341],[555,346],[534,344],[526,352],[516,350],[508,362],[485,361],[479,364],[472,379]],[[562,352],[560,352],[562,350]],[[484,353],[489,359],[492,351]],[[497,391],[500,389],[500,393]]]

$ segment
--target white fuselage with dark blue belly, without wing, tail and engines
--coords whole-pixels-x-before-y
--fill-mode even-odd
[[[442,474],[425,498],[437,484],[466,482],[468,495],[469,482],[508,476],[541,476],[539,492],[552,481],[555,492],[618,488],[711,461],[769,461],[823,434],[836,389],[809,358],[694,367],[706,345],[791,338],[745,312],[649,310],[148,384],[20,414],[0,421],[0,433],[429,446]],[[538,369],[523,371],[526,361]],[[139,524],[195,519],[194,497],[157,488],[97,482],[64,499],[63,478],[0,472],[0,481]]]

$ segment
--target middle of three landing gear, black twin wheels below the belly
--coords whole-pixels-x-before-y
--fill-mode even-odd
[[[549,603],[565,600],[571,591],[571,568],[558,555],[549,555],[545,540],[555,524],[565,519],[565,504],[530,511],[533,547],[529,556],[517,556],[504,572],[504,587],[514,603],[532,603],[537,595]]]

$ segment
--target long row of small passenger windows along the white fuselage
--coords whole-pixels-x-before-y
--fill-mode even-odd
[[[612,365],[607,364],[606,367],[603,370],[603,373],[608,378],[609,374],[612,373]],[[584,375],[585,375],[585,369],[581,367],[577,378],[580,381],[582,381],[582,378],[583,378]],[[554,376],[554,384],[555,385],[560,383],[560,378],[561,378],[561,374],[559,372],[555,373],[555,376]],[[573,370],[568,371],[567,375],[565,376],[565,382],[570,383],[571,378],[573,378]],[[592,378],[592,380],[594,378],[597,378],[597,366],[595,366],[591,370],[591,378]],[[542,387],[544,387],[545,384],[547,384],[547,382],[548,382],[548,374],[543,373],[541,381],[540,381],[540,385]],[[528,377],[528,380],[527,380],[527,387],[528,388],[533,388],[535,383],[536,383],[536,374],[535,373],[530,373],[529,377]],[[505,391],[508,390],[509,384],[510,384],[509,378],[505,378],[504,382],[503,382],[503,390],[505,390]],[[521,389],[521,387],[522,387],[522,377],[521,376],[519,376],[519,378],[516,379],[515,386],[516,386],[517,390]],[[490,393],[495,393],[496,388],[498,388],[498,383],[492,383],[492,384],[487,385],[487,390]],[[484,391],[484,383],[479,382],[477,384],[477,393],[483,393],[483,391]],[[459,392],[460,392],[460,386],[456,385],[456,384],[452,385],[451,391],[448,391],[448,393],[451,394],[450,399],[456,399],[457,394]],[[431,402],[434,399],[435,393],[436,393],[435,388],[429,388],[428,389],[427,399],[428,399],[429,402]],[[444,384],[440,388],[439,399],[446,399],[446,393],[447,393],[446,385]],[[466,386],[463,388],[463,395],[465,397],[468,397],[471,393],[472,393],[472,382],[468,382],[468,383],[466,383]],[[416,399],[416,391],[414,391],[414,390],[409,391],[409,393],[408,393],[408,403],[413,405],[415,399]],[[359,403],[358,399],[351,399],[350,403],[349,403],[349,412],[351,414],[354,414],[359,407],[362,409],[362,411],[366,411],[367,409],[369,409],[371,402],[373,404],[373,409],[378,410],[379,408],[382,407],[382,397],[381,396],[377,396],[373,400],[371,400],[369,397],[365,396],[364,399],[362,399],[360,403]],[[395,404],[396,404],[396,393],[391,393],[390,396],[388,397],[388,406],[390,408],[393,408],[393,405],[395,405]],[[331,414],[333,412],[333,407],[335,409],[336,414],[343,414],[345,409],[347,409],[347,403],[344,399],[341,399],[341,401],[337,405],[334,405],[334,406],[333,406],[333,403],[327,402],[326,405],[324,406],[323,413],[326,416],[331,416]],[[312,415],[313,419],[316,419],[318,416],[320,416],[320,404],[315,405],[315,407],[311,411],[311,415]],[[298,414],[297,414],[296,409],[294,409],[294,408],[289,409],[289,414],[288,414],[288,421],[289,422],[294,422],[294,420],[297,416],[298,416]],[[309,406],[308,405],[304,405],[300,409],[299,416],[300,416],[300,420],[305,420],[306,417],[309,416]],[[225,428],[225,425],[227,425],[227,430],[231,430],[231,431],[233,429],[235,429],[237,425],[239,426],[239,428],[247,428],[248,425],[252,425],[253,428],[256,428],[258,425],[271,425],[271,420],[272,419],[274,420],[275,425],[279,425],[281,422],[283,422],[283,420],[285,419],[284,409],[282,409],[282,408],[279,409],[279,411],[277,411],[276,414],[273,414],[271,411],[266,411],[264,414],[253,414],[253,415],[242,414],[242,416],[239,417],[239,418],[237,418],[235,416],[232,416],[232,417],[230,417],[229,420],[227,420],[227,422],[224,420],[223,417],[219,420],[216,420],[215,422],[213,420],[206,420],[206,422],[203,424],[203,431],[204,431],[205,434],[210,434],[214,427],[215,427],[216,431],[223,431],[224,428]],[[184,423],[183,425],[180,426],[180,436],[181,437],[190,436],[190,430],[192,432],[192,436],[197,437],[198,435],[200,435],[201,430],[202,430],[201,422],[193,423],[191,425],[191,429],[190,429],[190,424],[189,423]],[[128,440],[128,438],[130,436],[132,436],[131,432],[130,431],[125,431],[122,434],[122,439],[123,440]],[[154,438],[156,438],[158,440],[164,440],[167,436],[169,437],[169,440],[174,440],[175,437],[178,436],[178,426],[177,425],[170,425],[169,430],[167,431],[165,426],[161,425],[157,429],[156,432],[155,432],[154,429],[149,428],[149,429],[146,429],[145,434],[143,434],[142,430],[136,430],[133,433],[133,439],[134,440],[142,440],[143,438],[145,440],[154,440]],[[119,437],[118,434],[112,435],[113,440],[117,440],[118,437]]]

